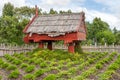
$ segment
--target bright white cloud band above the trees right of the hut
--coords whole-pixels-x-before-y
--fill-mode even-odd
[[[98,12],[95,10],[87,10],[85,11],[86,13],[86,20],[92,22],[92,20],[95,17],[99,17],[101,18],[101,20],[107,22],[110,25],[110,28],[113,29],[114,27],[116,27],[117,29],[120,30],[120,20],[119,18],[117,18],[116,16],[112,15],[112,14],[108,14],[108,13],[102,13],[102,12]]]

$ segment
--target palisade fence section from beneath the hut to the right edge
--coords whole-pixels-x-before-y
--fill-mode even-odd
[[[84,52],[118,52],[120,53],[120,45],[102,45],[102,46],[95,46],[95,45],[82,45],[81,46]],[[65,45],[55,45],[54,49],[64,49],[66,50],[68,47]]]

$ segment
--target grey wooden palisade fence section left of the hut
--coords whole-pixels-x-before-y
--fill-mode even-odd
[[[4,54],[14,54],[14,53],[26,53],[32,51],[33,49],[37,48],[37,45],[11,45],[11,44],[0,44],[0,56]]]

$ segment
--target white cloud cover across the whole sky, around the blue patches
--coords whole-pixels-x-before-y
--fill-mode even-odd
[[[84,7],[77,6],[73,3],[75,0],[37,0],[37,1],[38,1],[37,5],[40,8],[42,8],[43,11],[49,11],[50,8],[53,8],[57,11],[59,10],[66,11],[68,9],[71,9],[74,12],[84,11],[86,14],[86,21],[92,22],[92,20],[95,17],[100,17],[103,21],[107,22],[111,28],[117,27],[117,29],[120,30],[120,20],[118,16],[116,16],[115,14],[103,13],[95,10],[88,10]],[[85,0],[76,0],[76,1],[79,2],[79,4],[82,4],[84,3]],[[115,3],[119,3],[120,2],[119,0],[109,0],[109,1],[95,0],[95,1],[98,3],[102,3],[104,5],[110,6],[110,9],[111,10],[115,9],[114,11],[116,11],[116,13],[120,12],[120,10],[118,10],[120,9],[119,5],[115,4]],[[27,2],[27,0],[0,0],[0,2],[1,2],[0,13],[2,12],[2,7],[7,2],[11,2],[12,4],[14,4],[15,7],[20,7],[24,5],[32,6],[32,7],[34,6],[34,3]]]

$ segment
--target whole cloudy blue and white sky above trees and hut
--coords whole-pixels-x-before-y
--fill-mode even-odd
[[[95,17],[107,22],[110,28],[120,30],[120,0],[0,0],[0,15],[5,3],[12,3],[15,7],[37,5],[42,11],[71,10],[85,12],[86,21],[92,22]]]

